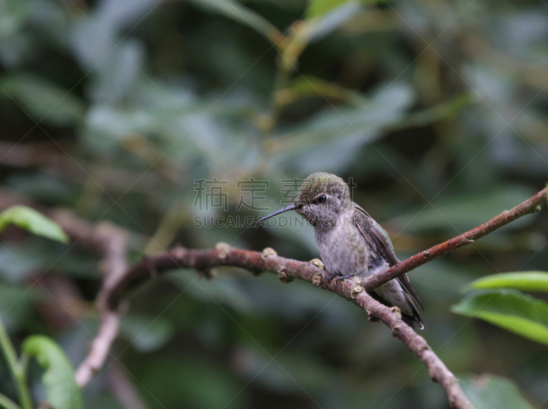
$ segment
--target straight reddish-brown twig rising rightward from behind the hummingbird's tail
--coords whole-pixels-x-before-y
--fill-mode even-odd
[[[372,276],[362,278],[362,285],[366,289],[379,287],[379,285],[393,280],[393,278],[401,276],[401,274],[410,272],[412,269],[416,269],[416,267],[419,267],[420,265],[437,259],[439,256],[443,256],[443,254],[450,252],[451,250],[466,246],[466,244],[471,244],[474,242],[474,240],[488,235],[494,230],[497,230],[497,228],[506,226],[506,224],[513,222],[523,215],[536,213],[540,210],[540,204],[545,202],[547,197],[546,193],[547,189],[545,188],[538,192],[532,198],[525,200],[525,202],[521,203],[521,205],[514,207],[514,209],[510,211],[503,211],[497,217],[493,217],[493,219],[489,220],[488,222],[485,222],[484,224],[477,226],[476,228],[473,228],[466,233],[462,233],[462,235],[453,237],[453,239],[447,240],[444,243],[431,247],[428,250],[424,250],[419,254],[415,254],[409,259],[401,261],[401,263],[398,263],[397,265],[394,265],[393,267],[390,267],[382,272],[378,272],[377,274],[373,274]]]

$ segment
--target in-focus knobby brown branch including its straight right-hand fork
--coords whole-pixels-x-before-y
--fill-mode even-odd
[[[379,272],[367,278],[353,278],[353,280],[340,283],[336,283],[336,280],[334,280],[332,283],[329,283],[325,280],[323,270],[312,263],[284,259],[277,256],[272,249],[265,249],[262,253],[259,253],[230,248],[226,244],[220,244],[213,250],[175,248],[159,256],[142,260],[133,265],[125,274],[119,276],[118,280],[112,280],[108,292],[105,291],[103,293],[102,300],[106,304],[104,308],[115,309],[118,307],[127,289],[173,268],[191,267],[201,272],[216,265],[230,265],[242,267],[251,272],[274,272],[279,275],[280,280],[283,282],[300,278],[301,280],[312,282],[316,287],[328,289],[347,300],[353,301],[371,317],[384,322],[392,330],[394,336],[403,341],[423,361],[429,369],[431,378],[443,386],[451,407],[472,408],[473,406],[464,393],[462,393],[454,375],[445,367],[445,364],[438,356],[434,354],[425,339],[404,324],[390,308],[373,300],[364,290],[373,289],[451,250],[473,243],[473,240],[483,237],[523,215],[538,211],[538,206],[545,198],[546,189],[543,189],[521,205],[514,207],[510,211],[501,213],[481,226],[416,254],[410,259],[384,270],[384,272]]]

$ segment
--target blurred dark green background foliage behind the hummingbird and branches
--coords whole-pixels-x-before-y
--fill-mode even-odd
[[[194,218],[267,214],[239,209],[237,181],[269,181],[256,205],[274,210],[282,180],[334,172],[404,259],[545,185],[547,34],[538,1],[4,0],[2,192],[124,226],[131,261],[219,241],[310,260],[308,226]],[[227,211],[195,206],[195,181],[213,178]],[[410,274],[421,334],[455,373],[497,374],[476,393],[512,394],[499,408],[520,407],[502,378],[546,407],[548,351],[450,306],[475,278],[545,271],[547,227],[543,209]],[[1,239],[12,339],[48,334],[77,365],[97,330],[97,256],[12,228]],[[148,408],[447,407],[386,328],[302,282],[179,271],[130,303],[87,408],[122,407],[114,357]],[[3,361],[0,391],[16,397]]]

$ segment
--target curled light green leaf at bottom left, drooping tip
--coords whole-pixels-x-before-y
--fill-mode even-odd
[[[23,342],[23,354],[36,357],[45,369],[42,382],[53,409],[82,409],[82,394],[74,378],[71,362],[49,337],[32,335]]]

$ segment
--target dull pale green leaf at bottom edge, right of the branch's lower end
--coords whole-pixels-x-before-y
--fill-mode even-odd
[[[514,382],[495,375],[459,378],[462,390],[477,409],[533,409]]]

